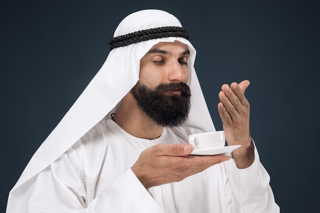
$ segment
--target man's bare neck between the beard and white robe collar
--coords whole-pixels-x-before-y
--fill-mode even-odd
[[[133,100],[130,93],[123,98],[117,113],[113,116],[114,121],[132,136],[145,139],[158,138],[164,128],[150,119]]]

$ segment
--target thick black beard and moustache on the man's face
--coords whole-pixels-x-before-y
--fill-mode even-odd
[[[179,89],[179,95],[165,93],[176,89]],[[130,92],[138,107],[157,125],[178,127],[188,121],[191,92],[187,84],[183,82],[159,84],[155,89],[150,89],[138,82]]]

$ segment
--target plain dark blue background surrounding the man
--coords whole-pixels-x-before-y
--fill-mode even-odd
[[[282,212],[319,202],[318,1],[2,1],[1,199],[108,55],[118,23],[141,9],[177,16],[217,130],[223,83],[250,80],[251,133]]]

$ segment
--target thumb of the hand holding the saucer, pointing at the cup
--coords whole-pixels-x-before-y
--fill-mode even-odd
[[[156,149],[157,156],[187,156],[193,150],[190,144],[158,144],[154,148]]]

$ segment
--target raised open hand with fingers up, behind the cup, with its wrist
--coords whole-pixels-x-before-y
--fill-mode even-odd
[[[219,92],[218,111],[223,123],[225,139],[229,146],[241,145],[233,152],[233,158],[240,169],[247,168],[254,161],[254,145],[249,131],[250,105],[244,96],[250,82],[223,84]]]

